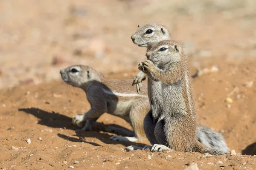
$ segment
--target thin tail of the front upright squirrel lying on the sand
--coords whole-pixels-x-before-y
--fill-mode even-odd
[[[196,141],[194,151],[199,152],[199,153],[209,153],[211,155],[225,155],[225,154],[229,153],[226,151],[212,149],[212,148],[207,147],[204,144],[200,143],[199,141]]]

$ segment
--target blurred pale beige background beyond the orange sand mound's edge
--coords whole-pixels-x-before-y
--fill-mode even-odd
[[[146,49],[130,37],[148,22],[166,25],[195,68],[256,56],[255,0],[1,0],[0,88],[60,79],[73,64],[137,70]]]

